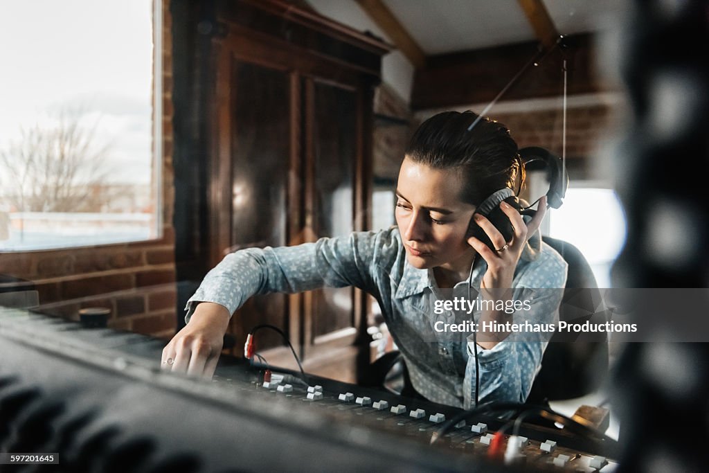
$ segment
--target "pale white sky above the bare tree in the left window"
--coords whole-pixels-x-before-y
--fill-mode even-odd
[[[0,0],[0,149],[81,108],[113,181],[150,181],[151,0]]]

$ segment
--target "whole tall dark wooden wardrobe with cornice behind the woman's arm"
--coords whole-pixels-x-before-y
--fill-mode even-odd
[[[211,13],[201,72],[211,89],[208,266],[240,248],[367,230],[374,87],[388,46],[281,1],[217,1]],[[255,296],[232,319],[233,354],[253,326],[271,323],[307,371],[354,382],[370,360],[367,300],[349,287]],[[276,333],[260,330],[257,350],[296,367]]]

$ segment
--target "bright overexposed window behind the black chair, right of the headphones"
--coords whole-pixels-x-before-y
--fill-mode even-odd
[[[612,189],[566,190],[564,205],[549,211],[549,236],[579,248],[598,287],[610,287],[610,267],[625,243],[625,215]]]

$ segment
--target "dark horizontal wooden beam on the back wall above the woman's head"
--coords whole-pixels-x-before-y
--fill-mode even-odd
[[[591,35],[567,37],[569,94],[612,91],[613,86],[596,74]],[[416,71],[411,108],[460,107],[491,101],[537,53],[539,43],[530,41],[447,55],[429,56],[425,69]],[[552,97],[562,94],[562,55],[552,52],[539,67],[530,67],[510,87],[503,100]]]

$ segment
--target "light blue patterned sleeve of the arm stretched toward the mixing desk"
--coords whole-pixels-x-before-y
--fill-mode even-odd
[[[386,251],[386,232],[320,238],[292,247],[247,248],[226,255],[187,301],[185,320],[199,302],[214,302],[233,314],[255,294],[294,293],[318,287],[372,286],[372,262]],[[390,239],[390,238],[389,238]]]

